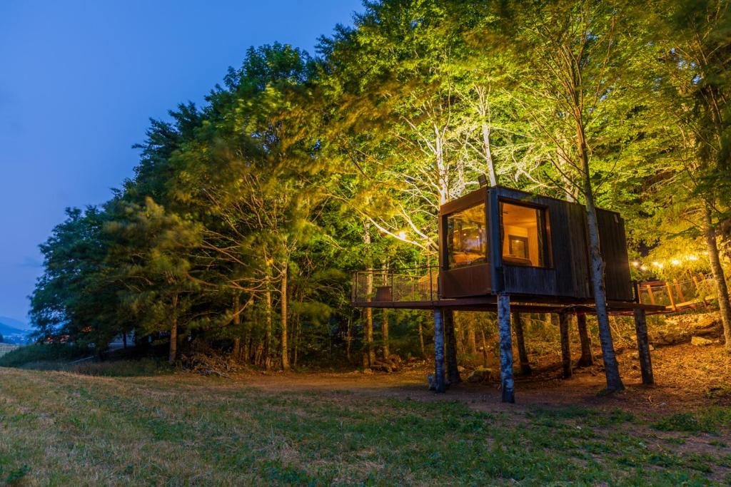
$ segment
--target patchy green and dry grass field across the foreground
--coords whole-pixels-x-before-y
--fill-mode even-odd
[[[0,368],[0,483],[731,482],[729,408],[479,411],[447,395],[267,384]]]

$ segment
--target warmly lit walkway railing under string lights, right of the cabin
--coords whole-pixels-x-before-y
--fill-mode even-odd
[[[669,310],[704,306],[716,298],[713,277],[705,275],[697,275],[680,281],[639,283],[637,289],[640,292],[641,303],[657,304],[667,307]]]

